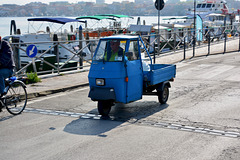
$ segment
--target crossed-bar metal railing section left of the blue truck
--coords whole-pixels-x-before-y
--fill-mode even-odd
[[[11,46],[15,55],[16,62],[16,75],[26,75],[30,72],[36,72],[37,74],[49,74],[58,73],[69,70],[79,71],[90,66],[91,58],[95,50],[95,46],[98,40],[88,40],[87,44],[81,49],[74,49],[73,47],[67,47],[67,44],[82,43],[83,40],[75,41],[48,41],[48,42],[36,42],[36,43],[11,43]],[[48,46],[42,53],[38,53],[34,58],[27,57],[26,49],[30,44],[45,45]],[[78,45],[75,45],[75,47]],[[69,56],[61,58],[61,51],[65,50]],[[85,59],[85,53],[83,50],[89,48],[90,57]],[[52,55],[52,56],[51,56]],[[50,56],[50,58],[49,58]],[[24,59],[24,62],[23,62]],[[44,69],[47,68],[47,69]]]

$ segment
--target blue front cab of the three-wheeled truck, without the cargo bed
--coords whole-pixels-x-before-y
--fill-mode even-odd
[[[116,42],[116,43],[115,43]],[[119,53],[112,45],[119,43]],[[113,57],[110,57],[112,54]],[[90,98],[129,103],[142,96],[142,62],[138,36],[100,39],[89,71]]]

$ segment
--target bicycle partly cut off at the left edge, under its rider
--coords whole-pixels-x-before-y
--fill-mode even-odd
[[[27,105],[26,85],[17,77],[5,79],[5,89],[0,103],[0,107],[6,107],[10,114],[22,113]]]

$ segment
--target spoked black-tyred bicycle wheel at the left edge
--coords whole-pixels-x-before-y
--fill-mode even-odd
[[[21,82],[10,84],[5,97],[6,109],[13,115],[22,113],[27,104],[26,87]]]

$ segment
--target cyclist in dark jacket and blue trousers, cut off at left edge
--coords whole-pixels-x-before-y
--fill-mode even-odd
[[[13,59],[13,51],[7,41],[2,40],[0,36],[0,100],[4,95],[5,82],[4,80],[11,77],[15,67]],[[0,103],[0,112],[2,110],[2,103]]]

